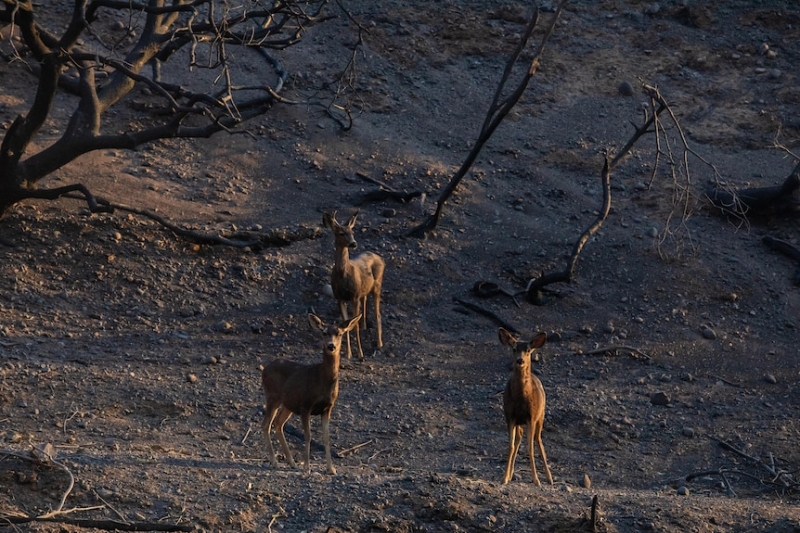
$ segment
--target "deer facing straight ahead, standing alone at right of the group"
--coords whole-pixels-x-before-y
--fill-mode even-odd
[[[529,343],[519,342],[508,330],[500,328],[500,343],[510,347],[514,353],[514,367],[511,378],[503,392],[503,413],[508,426],[508,462],[503,484],[507,484],[514,477],[514,462],[517,459],[520,444],[522,443],[523,428],[528,430],[528,455],[531,459],[531,473],[533,482],[541,486],[539,476],[536,474],[536,464],[533,461],[533,443],[539,445],[542,453],[544,471],[547,480],[553,484],[550,467],[547,466],[547,453],[542,444],[542,427],[544,426],[545,395],[542,382],[531,372],[531,355],[541,348],[546,333],[539,333]]]

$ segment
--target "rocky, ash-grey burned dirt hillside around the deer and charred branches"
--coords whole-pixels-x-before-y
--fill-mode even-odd
[[[277,108],[253,124],[255,139],[99,153],[53,177],[207,231],[318,227],[327,209],[344,218],[373,188],[359,174],[426,192],[359,207],[359,250],[387,263],[386,345],[342,362],[337,476],[322,473],[317,446],[310,476],[273,469],[259,427],[259,366],[318,360],[306,313],[336,317],[323,293],[330,235],[198,248],[71,200],[22,205],[0,226],[15,244],[0,248],[2,447],[56,446],[75,477],[66,507],[102,506],[71,516],[204,531],[579,531],[594,495],[601,531],[800,531],[796,490],[762,483],[763,465],[717,440],[800,467],[796,265],[761,244],[772,235],[797,245],[796,219],[741,225],[705,209],[714,172],[693,157],[692,216],[668,226],[676,186],[663,167],[650,183],[655,144],[643,139],[612,178],[611,216],[575,283],[540,307],[470,294],[479,280],[522,290],[563,268],[600,207],[602,151],[627,141],[647,104],[620,94],[623,82],[657,85],[724,182],[767,186],[789,174],[796,163],[773,140],[780,131],[797,153],[800,9],[697,4],[571,2],[524,101],[426,240],[402,237],[474,142],[525,4],[350,2],[370,30],[352,131]],[[344,17],[313,29],[294,52],[298,89],[344,64],[352,31]],[[8,124],[24,109],[24,78],[5,64],[0,74]],[[674,130],[669,139],[678,149]],[[510,355],[496,325],[454,296],[560,338],[537,363],[554,486],[533,486],[523,457],[516,479],[500,483]],[[647,357],[589,355],[619,345]],[[651,402],[657,391],[667,405]],[[312,430],[320,439],[318,421]],[[302,438],[289,441],[300,457]],[[43,513],[67,483],[58,468],[5,457],[0,509]]]

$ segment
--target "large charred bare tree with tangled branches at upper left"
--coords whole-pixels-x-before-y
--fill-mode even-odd
[[[0,0],[2,59],[9,68],[16,63],[28,69],[32,89],[35,85],[27,112],[16,117],[0,145],[0,216],[24,199],[67,194],[81,195],[93,212],[110,210],[83,184],[38,188],[37,183],[94,150],[209,137],[263,115],[285,101],[281,93],[287,72],[278,51],[297,44],[308,27],[328,18],[324,0],[56,4]],[[254,59],[263,64],[257,68],[258,81],[237,79],[242,63]],[[162,72],[180,82],[165,81]],[[203,73],[208,74],[203,78],[208,90],[197,92],[190,87],[199,85],[195,81]],[[134,88],[149,95],[147,108],[137,110],[147,114],[146,120],[115,123],[109,111],[120,107]],[[52,120],[60,93],[73,96],[71,113],[55,126],[58,137],[48,144],[39,139],[40,132]]]

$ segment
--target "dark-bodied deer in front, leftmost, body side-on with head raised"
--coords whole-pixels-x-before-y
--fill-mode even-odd
[[[309,313],[308,321],[312,328],[322,332],[322,362],[302,364],[286,359],[276,359],[264,367],[261,384],[267,399],[267,409],[261,429],[267,441],[267,452],[273,467],[277,467],[275,450],[272,448],[270,432],[276,427],[283,454],[292,468],[294,462],[283,426],[292,414],[300,415],[305,433],[306,457],[305,472],[311,473],[311,416],[320,415],[322,419],[322,440],[325,444],[325,460],[329,474],[336,474],[331,460],[330,420],[333,405],[339,396],[339,353],[342,337],[358,324],[360,315],[341,322],[338,326],[326,325],[322,319]]]

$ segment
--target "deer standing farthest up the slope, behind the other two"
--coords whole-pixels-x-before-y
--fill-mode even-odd
[[[364,351],[361,349],[361,327],[367,327],[367,296],[370,294],[375,302],[375,322],[378,328],[377,346],[383,346],[383,331],[381,328],[381,286],[383,285],[383,271],[386,268],[381,257],[373,252],[363,252],[358,257],[350,259],[350,250],[358,246],[353,236],[353,227],[356,225],[358,213],[350,217],[345,224],[336,220],[336,212],[324,213],[322,225],[333,232],[335,245],[335,258],[331,270],[331,289],[333,296],[339,302],[339,311],[342,319],[347,320],[347,304],[353,308],[353,315],[361,315],[361,324],[356,326],[356,342],[358,343],[358,356],[363,359]],[[347,334],[347,358],[352,357],[350,349],[350,334]]]

